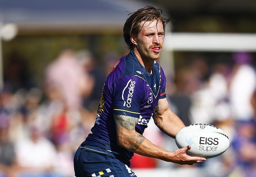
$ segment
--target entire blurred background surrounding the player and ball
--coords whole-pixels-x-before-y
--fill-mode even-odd
[[[73,177],[103,83],[125,50],[128,13],[171,17],[161,59],[167,99],[184,124],[223,129],[229,149],[180,166],[135,155],[138,177],[256,176],[254,0],[0,0],[0,177]],[[175,141],[150,121],[145,136]]]

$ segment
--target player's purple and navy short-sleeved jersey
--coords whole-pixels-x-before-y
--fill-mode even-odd
[[[161,66],[154,62],[149,74],[131,50],[107,77],[95,125],[82,145],[99,146],[116,153],[119,159],[131,159],[133,153],[117,144],[113,114],[139,118],[135,131],[142,135],[158,100],[165,97],[165,75]]]

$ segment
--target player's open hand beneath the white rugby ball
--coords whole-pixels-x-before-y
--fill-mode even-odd
[[[191,157],[186,154],[186,152],[191,149],[190,145],[187,145],[184,148],[177,149],[173,151],[173,155],[170,158],[170,162],[181,164],[181,165],[193,165],[198,162],[204,162],[206,159],[202,157]]]

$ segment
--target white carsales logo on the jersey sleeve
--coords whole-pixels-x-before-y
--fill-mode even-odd
[[[135,81],[132,81],[132,79],[130,79],[128,81],[128,83],[126,84],[126,86],[124,87],[124,90],[122,90],[122,100],[124,100],[124,106],[126,107],[131,107],[131,103],[132,103],[132,96],[134,94],[134,87],[135,87]],[[128,89],[128,94],[125,93],[126,89]],[[127,94],[127,97],[124,98],[124,94]]]

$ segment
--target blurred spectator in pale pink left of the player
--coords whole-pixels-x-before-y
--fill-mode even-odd
[[[75,53],[62,52],[46,69],[47,90],[54,90],[67,109],[79,109],[82,96],[91,94],[93,80],[80,65]]]

